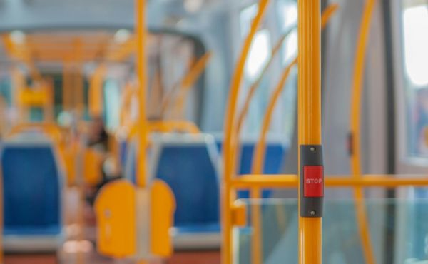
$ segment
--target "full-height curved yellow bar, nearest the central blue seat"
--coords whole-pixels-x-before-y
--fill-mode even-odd
[[[240,83],[243,79],[243,71],[245,62],[248,58],[248,53],[250,51],[250,45],[253,42],[255,33],[258,30],[258,26],[262,21],[262,18],[265,14],[267,4],[269,0],[260,0],[258,4],[258,14],[253,19],[251,24],[250,33],[246,37],[243,49],[241,50],[238,64],[235,67],[233,73],[233,78],[230,83],[229,96],[228,96],[228,108],[225,114],[225,141],[223,149],[223,215],[222,215],[222,225],[223,225],[223,239],[222,239],[222,263],[231,264],[233,263],[232,255],[232,209],[233,209],[233,192],[230,190],[230,181],[235,178],[236,174],[236,157],[234,150],[236,148],[236,126],[235,126],[235,111],[238,103],[238,94],[240,90]],[[260,258],[258,258],[260,259]]]

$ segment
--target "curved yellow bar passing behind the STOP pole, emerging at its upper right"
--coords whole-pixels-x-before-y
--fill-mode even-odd
[[[322,12],[321,17],[321,28],[324,29],[327,26],[328,21],[332,18],[333,14],[339,8],[339,4],[331,4],[327,6],[327,8]],[[283,71],[282,76],[280,78],[280,82],[277,84],[275,90],[270,97],[270,101],[267,104],[267,111],[265,113],[265,117],[263,118],[262,131],[260,133],[260,137],[258,143],[254,149],[253,155],[253,174],[263,173],[263,163],[265,161],[265,151],[266,151],[266,137],[267,131],[269,130],[269,126],[272,120],[273,111],[275,110],[275,106],[277,104],[278,99],[280,98],[280,94],[285,85],[285,81],[287,81],[287,77],[290,74],[291,68],[297,64],[297,58],[292,61]]]

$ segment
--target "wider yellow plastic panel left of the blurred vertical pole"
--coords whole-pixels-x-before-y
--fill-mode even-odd
[[[113,258],[136,254],[136,190],[125,180],[101,189],[95,203],[98,252]]]

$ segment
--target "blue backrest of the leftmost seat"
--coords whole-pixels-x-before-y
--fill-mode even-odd
[[[61,178],[51,146],[1,151],[5,235],[61,233]]]

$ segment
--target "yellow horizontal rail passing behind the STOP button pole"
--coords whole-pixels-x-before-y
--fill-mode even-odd
[[[396,178],[392,178],[396,177]],[[426,177],[426,178],[423,178]],[[243,175],[231,181],[232,188],[297,188],[297,175]],[[404,186],[428,186],[428,175],[387,175],[367,174],[362,178],[350,176],[330,176],[325,178],[325,186],[329,188],[355,188],[355,187],[385,187],[398,188]]]

